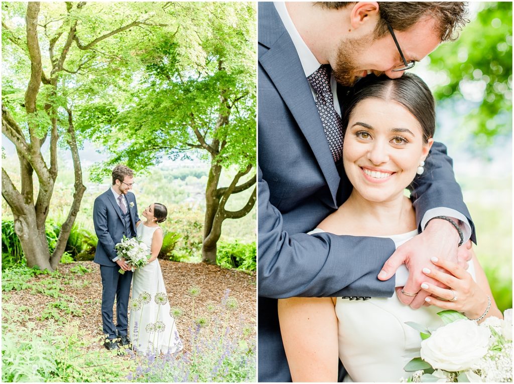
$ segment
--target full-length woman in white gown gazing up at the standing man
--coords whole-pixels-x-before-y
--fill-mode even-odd
[[[139,222],[136,239],[148,245],[151,257],[148,264],[134,271],[132,279],[132,305],[130,337],[138,351],[175,353],[182,349],[157,255],[162,247],[162,223],[168,216],[166,206],[154,203],[148,206]]]

